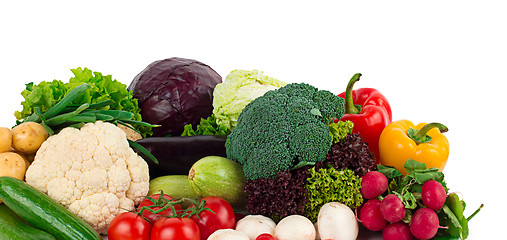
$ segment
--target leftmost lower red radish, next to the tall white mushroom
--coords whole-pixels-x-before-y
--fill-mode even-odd
[[[380,200],[368,200],[359,211],[359,221],[371,231],[380,231],[387,225],[387,221],[380,214]]]

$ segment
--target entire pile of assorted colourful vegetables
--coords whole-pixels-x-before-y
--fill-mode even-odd
[[[334,94],[176,57],[128,87],[71,71],[0,128],[2,239],[466,239],[483,207],[444,179],[447,127],[392,121],[359,73]]]

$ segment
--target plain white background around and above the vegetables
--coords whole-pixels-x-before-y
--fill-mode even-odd
[[[78,3],[79,2],[79,3]],[[142,3],[141,3],[142,2]],[[470,239],[505,237],[507,15],[493,1],[0,3],[0,126],[28,82],[88,67],[129,84],[149,63],[193,58],[222,77],[259,69],[336,94],[379,89],[393,119],[449,127],[444,170],[467,202]]]

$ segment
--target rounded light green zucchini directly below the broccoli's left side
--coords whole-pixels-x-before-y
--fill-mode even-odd
[[[190,169],[188,180],[199,197],[218,196],[235,208],[245,207],[245,174],[235,161],[219,156],[201,158]]]

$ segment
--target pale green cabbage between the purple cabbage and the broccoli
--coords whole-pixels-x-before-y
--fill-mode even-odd
[[[213,115],[217,124],[232,130],[239,114],[251,101],[264,93],[287,85],[259,70],[234,70],[213,91]]]

